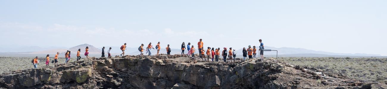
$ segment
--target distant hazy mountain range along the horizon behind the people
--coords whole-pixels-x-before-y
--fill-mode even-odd
[[[85,48],[86,46],[89,47],[89,54],[101,54],[102,52],[102,47],[94,47],[93,45],[89,45],[89,44],[81,44],[81,45],[77,45],[75,47],[71,47],[71,48],[64,48],[64,47],[48,47],[48,48],[42,48],[42,47],[38,47],[38,46],[31,46],[31,47],[20,47],[20,48],[0,48],[0,52],[11,52],[11,53],[14,53],[14,52],[19,52],[22,54],[55,54],[56,52],[60,52],[60,53],[64,53],[66,50],[70,50],[72,52],[72,54],[76,54],[77,50],[78,49],[81,49],[81,54],[83,55],[84,52],[85,52]],[[105,54],[107,55],[107,51],[109,49],[109,47],[112,48],[111,50],[111,53],[112,54],[121,54],[122,51],[120,50],[120,47],[118,46],[105,46]],[[305,56],[309,56],[307,54],[313,54],[313,55],[318,55],[318,54],[321,54],[321,55],[348,55],[348,56],[381,56],[379,54],[344,54],[344,53],[333,53],[333,52],[324,52],[324,51],[315,51],[315,50],[308,50],[308,49],[303,49],[303,48],[291,48],[291,47],[281,47],[281,48],[276,48],[276,47],[269,47],[269,46],[266,46],[265,47],[265,50],[268,50],[268,49],[271,49],[271,50],[278,50],[278,55],[300,55],[300,54],[303,54]],[[223,49],[221,49],[223,50]],[[198,52],[199,50],[195,49],[195,52],[196,53],[199,53]],[[127,47],[126,50],[125,50],[126,54],[129,54],[129,55],[138,55],[140,54],[140,52],[138,51],[138,47]],[[145,54],[145,50],[144,50],[144,54]],[[157,53],[157,50],[155,49],[152,49],[151,50],[152,54],[156,54]],[[181,49],[171,49],[171,54],[181,54],[182,50]],[[238,54],[242,54],[242,49],[238,49],[236,50],[236,52]],[[162,47],[160,49],[160,54],[166,54],[166,49],[165,47]],[[264,52],[265,55],[275,55],[276,54],[276,51],[272,51],[272,52],[269,52],[269,51],[265,51]],[[185,50],[185,54],[187,54],[187,50]],[[310,55],[310,56],[313,56],[313,55]],[[320,56],[320,55],[319,55]]]

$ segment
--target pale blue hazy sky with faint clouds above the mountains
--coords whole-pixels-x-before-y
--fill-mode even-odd
[[[2,47],[182,42],[387,55],[386,0],[2,0]]]

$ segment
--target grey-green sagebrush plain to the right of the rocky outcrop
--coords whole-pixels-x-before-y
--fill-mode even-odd
[[[387,58],[280,57],[278,60],[302,67],[341,72],[353,79],[387,82]]]

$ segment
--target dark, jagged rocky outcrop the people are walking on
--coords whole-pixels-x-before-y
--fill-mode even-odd
[[[219,60],[221,61],[221,60]],[[186,55],[90,58],[2,74],[6,89],[386,89],[275,59],[209,62]]]

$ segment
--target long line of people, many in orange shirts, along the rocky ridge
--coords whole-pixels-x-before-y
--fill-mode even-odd
[[[262,43],[262,40],[259,39],[259,43],[260,43],[260,46],[259,46],[259,52],[260,52],[260,59],[263,60],[264,59],[264,44]],[[204,43],[202,42],[202,39],[200,39],[200,41],[198,42],[198,50],[199,50],[199,57],[202,59],[202,60],[206,60],[205,58],[205,55],[207,55],[207,60],[210,60],[211,58],[211,61],[214,61],[215,59],[215,62],[218,62],[219,60],[219,55],[220,55],[220,48],[217,48],[217,49],[214,49],[214,48],[211,48],[211,47],[207,47],[207,52],[205,51],[203,45]],[[184,51],[185,51],[185,43],[183,42],[182,44],[182,54],[184,54]],[[159,51],[160,51],[160,42],[157,43],[156,45],[156,49],[157,49],[157,55],[159,55]],[[105,53],[104,53],[104,49],[105,47],[102,48],[102,55],[101,57],[105,57]],[[125,49],[126,49],[126,43],[124,45],[121,46],[120,48],[122,50],[122,54],[120,54],[121,56],[125,55]],[[152,43],[150,42],[148,44],[148,46],[146,47],[146,54],[148,54],[148,56],[152,55],[151,53],[151,49],[155,49],[153,48],[153,45]],[[170,48],[170,45],[168,44],[167,47],[165,48],[166,51],[167,51],[167,55],[171,55],[171,48]],[[144,55],[144,44],[141,44],[141,46],[139,47],[138,49],[140,51],[140,55]],[[187,55],[190,56],[191,58],[195,56],[195,47],[194,45],[191,45],[191,43],[188,43],[187,45],[187,50],[188,50],[188,53]],[[111,57],[111,54],[110,54],[110,51],[111,51],[111,47],[109,48],[108,50],[108,57]],[[245,47],[243,47],[243,60],[246,60],[247,56],[249,59],[252,59],[252,58],[255,58],[255,55],[257,55],[256,53],[257,51],[257,48],[255,46],[253,46],[253,48],[251,48],[250,45],[248,45],[248,48],[246,49]],[[70,60],[70,54],[71,54],[71,51],[67,50],[67,52],[65,53],[65,63],[68,63],[68,61]],[[229,58],[229,61],[231,62],[235,62],[236,60],[236,52],[235,52],[235,49],[232,49],[231,47],[229,48],[229,50],[227,51],[227,48],[224,47],[223,48],[223,51],[222,51],[222,56],[223,56],[223,61],[224,62],[227,62],[226,59],[227,57]],[[58,55],[59,55],[59,52],[57,52],[57,54],[55,54],[55,57],[54,57],[54,60],[51,61],[51,63],[54,63],[54,66],[57,66],[58,65]],[[86,47],[85,49],[85,54],[84,54],[87,57],[89,57],[89,47]],[[77,61],[80,60],[80,49],[78,49],[78,52],[77,52]],[[38,56],[35,57],[35,59],[32,60],[32,63],[34,65],[34,68],[37,68],[38,67]],[[49,66],[50,64],[50,55],[46,55],[46,66]]]

